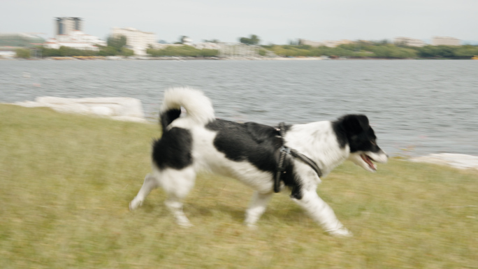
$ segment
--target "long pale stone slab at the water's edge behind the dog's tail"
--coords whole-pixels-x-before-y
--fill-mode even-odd
[[[132,122],[147,122],[143,113],[141,101],[130,97],[70,99],[41,96],[37,97],[34,102],[17,102],[15,105],[27,108],[46,107],[59,112],[97,115]]]

